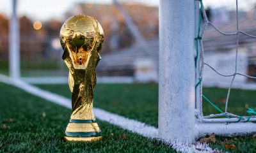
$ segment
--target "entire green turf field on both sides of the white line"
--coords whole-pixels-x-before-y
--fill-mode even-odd
[[[47,91],[71,97],[68,85],[38,85]],[[157,85],[156,84],[98,84],[95,89],[95,103],[98,108],[117,113],[131,119],[140,120],[157,127]],[[104,139],[94,143],[64,142],[70,110],[54,105],[44,99],[36,98],[14,87],[0,84],[1,121],[12,118],[9,128],[1,129],[0,152],[38,151],[63,152],[172,152],[168,146],[156,140],[125,131],[106,122],[99,122]],[[226,89],[208,88],[204,94],[223,110]],[[255,106],[256,91],[233,90],[230,96],[229,110],[246,114],[247,106]],[[47,104],[47,105],[45,105]],[[42,113],[46,117],[42,117]],[[216,113],[204,101],[204,113]],[[3,114],[3,115],[2,115]],[[122,138],[125,135],[127,138]],[[255,152],[256,138],[252,136],[225,138],[217,136],[217,142],[211,143],[213,149],[225,151],[225,144],[234,144],[231,152]]]

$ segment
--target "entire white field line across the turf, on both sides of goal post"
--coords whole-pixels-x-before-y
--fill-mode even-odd
[[[18,87],[19,89],[22,89],[28,92],[29,94],[33,94],[40,98],[46,99],[47,101],[51,101],[52,103],[56,103],[66,108],[71,108],[71,99],[65,98],[58,94],[54,94],[52,92],[44,91],[38,87],[29,85],[26,82],[22,82],[20,80],[13,80],[12,78],[6,77],[1,74],[0,82]],[[115,113],[107,112],[100,108],[93,108],[93,112],[95,113],[95,117],[99,120],[109,122],[110,124],[119,126],[123,129],[127,129],[129,131],[132,131],[133,133],[137,133],[147,138],[158,138],[158,129],[154,126],[149,126],[143,122],[139,122],[138,120],[127,119],[126,117],[116,115]],[[177,152],[214,151],[207,144],[202,143],[182,143],[174,140],[166,143],[170,145],[173,149],[177,150]]]

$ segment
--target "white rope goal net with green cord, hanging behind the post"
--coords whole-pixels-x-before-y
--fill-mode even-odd
[[[196,45],[196,58],[195,58],[195,67],[196,67],[196,85],[195,85],[195,92],[196,92],[196,119],[198,119],[199,122],[255,122],[256,121],[256,112],[253,110],[253,108],[249,107],[247,110],[248,115],[237,115],[232,112],[228,112],[228,103],[232,103],[230,101],[230,94],[232,94],[232,87],[235,82],[235,78],[242,76],[247,78],[255,79],[256,77],[252,77],[250,75],[246,75],[243,73],[240,73],[237,69],[239,65],[239,37],[240,36],[247,36],[250,38],[256,38],[253,34],[246,33],[244,31],[239,30],[239,11],[238,11],[238,3],[236,0],[236,31],[233,33],[226,33],[225,31],[221,31],[216,25],[214,25],[212,22],[210,22],[207,18],[207,14],[205,12],[204,4],[202,1],[199,1],[200,8],[198,9],[199,13],[196,13],[198,16],[198,20],[196,20],[196,38],[195,38],[195,45]],[[250,23],[248,23],[250,24]],[[232,73],[227,74],[220,72],[219,69],[214,68],[214,66],[211,66],[211,64],[205,62],[205,55],[204,55],[204,47],[203,47],[203,40],[204,40],[204,34],[207,27],[212,27],[216,33],[220,33],[223,36],[236,36],[236,41],[234,41],[234,45],[236,46],[236,53],[234,56],[234,66],[232,69]],[[203,87],[202,82],[204,81],[204,68],[208,67],[212,72],[216,73],[217,75],[220,75],[223,78],[230,77],[229,87],[227,91],[227,96],[225,98],[225,110],[221,110],[214,104],[211,99],[207,98],[203,94]],[[212,113],[211,115],[204,115],[203,113],[203,99],[209,103],[213,108],[218,110],[219,113]]]

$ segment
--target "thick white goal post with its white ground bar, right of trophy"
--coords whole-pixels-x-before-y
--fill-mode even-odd
[[[199,2],[160,0],[159,3],[159,138],[195,141],[207,134],[256,133],[252,122],[237,119],[198,119],[200,94],[195,91],[195,38]],[[197,14],[196,14],[197,13]],[[227,120],[229,120],[227,122]],[[207,122],[210,121],[210,122]]]

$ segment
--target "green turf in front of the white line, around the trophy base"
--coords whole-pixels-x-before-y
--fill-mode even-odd
[[[63,90],[60,87],[56,89]],[[0,91],[0,152],[175,152],[156,140],[100,120],[102,140],[65,142],[63,136],[71,110],[10,85],[0,83]],[[104,94],[109,95],[109,91]],[[68,96],[69,92],[65,95]],[[8,119],[13,122],[4,121]]]

